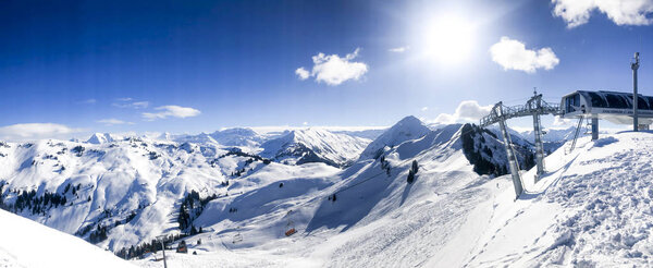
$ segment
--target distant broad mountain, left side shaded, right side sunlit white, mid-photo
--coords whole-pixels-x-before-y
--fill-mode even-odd
[[[352,163],[369,143],[369,139],[320,129],[296,130],[263,143],[260,156],[292,165],[324,162],[344,167]]]

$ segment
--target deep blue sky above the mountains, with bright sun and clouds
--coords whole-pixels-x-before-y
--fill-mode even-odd
[[[652,10],[649,0],[4,1],[0,135],[476,121],[456,108],[518,105],[533,87],[552,101],[631,90],[634,51],[640,92],[653,95]]]

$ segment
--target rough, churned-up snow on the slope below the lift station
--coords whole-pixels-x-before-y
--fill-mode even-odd
[[[605,142],[596,144],[603,147]],[[545,193],[545,202],[560,204],[576,214],[549,230],[558,241],[538,260],[562,263],[558,255],[570,252],[575,265],[594,260],[606,265],[606,260],[618,256],[623,260],[614,265],[651,266],[653,172],[645,151],[653,146],[641,145],[637,150],[578,161],[578,170],[592,171],[566,175]]]

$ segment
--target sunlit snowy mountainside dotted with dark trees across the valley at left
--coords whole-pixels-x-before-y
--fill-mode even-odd
[[[245,134],[243,138],[250,137],[250,132]],[[159,234],[187,232],[178,229],[176,217],[180,200],[192,191],[231,200],[275,181],[338,171],[323,163],[263,163],[226,155],[233,147],[202,136],[193,137],[199,143],[111,134],[94,134],[87,143],[0,143],[0,200],[12,205],[29,191],[35,199],[46,193],[63,196],[61,206],[50,203],[42,211],[26,207],[12,212],[84,239],[106,227],[107,239],[97,245],[118,252]],[[242,174],[233,175],[237,170]]]

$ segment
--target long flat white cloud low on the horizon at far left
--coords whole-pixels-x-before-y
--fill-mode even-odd
[[[11,142],[35,141],[41,138],[66,138],[73,133],[83,132],[56,123],[25,123],[0,127],[0,138]]]

